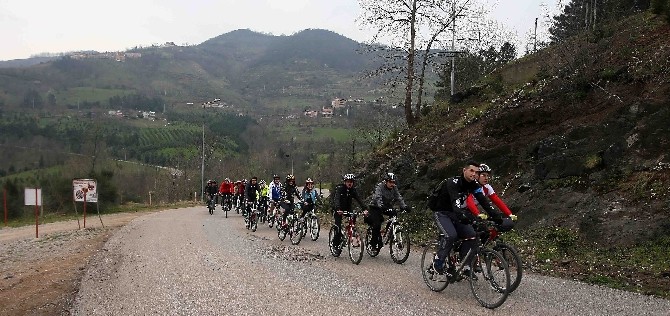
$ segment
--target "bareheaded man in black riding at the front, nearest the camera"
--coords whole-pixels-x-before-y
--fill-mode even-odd
[[[464,258],[470,249],[477,246],[476,233],[471,225],[474,216],[465,209],[465,200],[469,194],[479,201],[479,205],[494,221],[502,221],[502,215],[493,209],[484,196],[482,187],[475,180],[477,172],[479,172],[479,164],[468,162],[463,167],[462,174],[447,179],[439,189],[434,218],[444,237],[442,237],[440,248],[433,261],[433,268],[439,274],[444,274],[445,259],[458,238],[463,239],[460,249],[461,258]],[[484,217],[483,215],[485,214],[480,216]]]

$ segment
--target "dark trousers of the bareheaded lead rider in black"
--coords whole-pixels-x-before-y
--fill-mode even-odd
[[[443,212],[435,212],[434,217],[438,229],[444,234],[440,240],[440,249],[437,251],[439,260],[444,262],[454,247],[454,242],[459,238],[463,239],[460,249],[461,258],[464,258],[470,249],[477,246],[476,233],[472,225],[453,220],[449,214]]]

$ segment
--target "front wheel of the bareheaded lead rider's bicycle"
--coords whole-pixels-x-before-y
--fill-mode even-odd
[[[510,287],[509,267],[497,251],[482,248],[470,263],[466,277],[470,289],[482,306],[494,309],[507,299]]]

